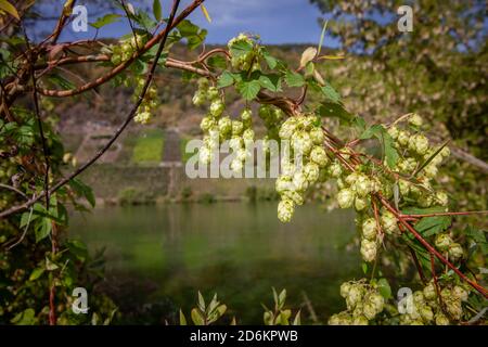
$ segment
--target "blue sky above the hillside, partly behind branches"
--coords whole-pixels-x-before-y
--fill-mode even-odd
[[[172,1],[162,0],[164,15],[168,14]],[[180,9],[189,4],[191,0],[182,0]],[[78,3],[84,3],[79,1]],[[87,2],[88,22],[92,23],[100,14],[98,9]],[[152,0],[133,1],[133,4],[146,3],[152,7]],[[190,20],[208,30],[208,43],[224,43],[239,33],[246,31],[259,34],[265,43],[317,43],[320,38],[321,27],[318,18],[323,16],[316,5],[308,0],[207,0],[205,2],[210,13],[211,23],[205,20],[198,9],[191,14]],[[59,12],[57,9],[54,10]],[[91,14],[92,13],[92,14]],[[53,22],[44,23],[42,29],[48,30]],[[115,37],[128,34],[130,30],[127,21],[114,23],[103,27],[99,37]],[[85,39],[94,35],[94,29],[88,33],[74,33],[67,27],[62,39]],[[332,39],[326,40],[328,47],[336,47]]]

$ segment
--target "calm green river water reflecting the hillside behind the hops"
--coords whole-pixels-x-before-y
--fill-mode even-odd
[[[169,298],[189,311],[197,290],[207,296],[217,292],[241,323],[261,323],[260,304],[270,304],[271,286],[286,287],[290,304],[298,307],[304,291],[323,321],[343,308],[342,281],[361,275],[357,250],[345,249],[355,233],[351,213],[300,206],[284,226],[275,208],[274,203],[101,208],[74,215],[70,235],[91,250],[106,246],[110,279],[151,283],[151,291],[138,293],[144,303]]]

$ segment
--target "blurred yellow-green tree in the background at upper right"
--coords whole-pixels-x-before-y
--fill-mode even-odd
[[[349,64],[322,67],[348,99],[348,108],[387,123],[403,111],[422,114],[429,138],[450,140],[457,160],[441,169],[458,208],[486,209],[486,165],[463,163],[464,151],[487,162],[487,41],[484,1],[310,0],[332,14],[328,35]],[[413,31],[400,33],[397,9],[413,10]],[[442,18],[441,21],[439,18]],[[455,151],[454,151],[455,150]],[[476,164],[476,163],[474,163]]]

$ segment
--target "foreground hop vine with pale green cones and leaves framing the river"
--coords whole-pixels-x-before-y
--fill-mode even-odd
[[[480,52],[464,55],[458,50],[442,63],[445,65],[441,65],[439,56],[429,59],[424,55],[422,59],[427,63],[418,64],[416,69],[408,74],[407,69],[390,69],[388,78],[393,83],[391,89],[396,93],[401,91],[402,100],[408,100],[399,104],[401,110],[418,111],[424,116],[411,113],[393,123],[367,121],[347,111],[341,94],[322,76],[323,72],[318,67],[320,63],[342,56],[321,55],[320,47],[307,48],[300,61],[295,66],[288,66],[273,56],[260,43],[258,36],[241,34],[231,39],[226,49],[204,51],[194,61],[170,57],[169,50],[177,42],[187,43],[189,50],[203,43],[206,30],[185,18],[202,2],[191,2],[177,15],[177,1],[167,18],[160,18],[157,4],[151,15],[142,9],[127,9],[121,4],[124,16],[131,21],[133,30],[110,46],[97,39],[89,43],[57,43],[63,26],[70,16],[73,1],[66,1],[60,14],[60,25],[46,40],[29,41],[22,35],[18,22],[10,23],[14,35],[5,38],[5,54],[2,53],[0,62],[0,188],[4,190],[0,198],[1,322],[111,322],[114,307],[103,295],[91,301],[91,316],[76,316],[69,310],[74,287],[85,286],[90,293],[95,293],[95,284],[101,277],[98,266],[102,260],[101,255],[91,258],[85,245],[65,237],[63,232],[68,226],[67,210],[74,208],[85,211],[87,203],[94,206],[91,189],[78,176],[111,147],[132,120],[147,124],[154,118],[159,101],[153,76],[162,68],[181,69],[184,72],[183,78],[196,80],[193,103],[208,110],[201,123],[204,145],[198,155],[203,164],[210,162],[220,141],[229,140],[235,154],[231,168],[235,172],[242,171],[243,163],[249,156],[249,144],[256,138],[253,129],[256,116],[267,127],[265,143],[286,140],[291,143],[290,151],[301,155],[305,159],[303,167],[295,158],[285,158],[281,163],[282,172],[277,180],[280,195],[278,217],[281,221],[291,221],[295,208],[304,204],[313,184],[326,181],[336,182],[339,207],[354,207],[357,210],[360,253],[365,261],[363,269],[371,274],[371,280],[343,284],[342,294],[346,298],[347,311],[331,318],[331,323],[445,324],[464,323],[472,319],[483,308],[487,291],[483,287],[481,274],[471,270],[470,259],[478,257],[484,261],[486,239],[484,232],[475,227],[465,229],[465,232],[453,228],[457,214],[452,213],[449,196],[440,188],[438,176],[438,166],[449,156],[449,150],[445,144],[433,144],[427,139],[424,132],[428,127],[424,126],[424,119],[432,123],[434,116],[441,116],[454,140],[466,134],[458,131],[465,127],[468,128],[468,134],[475,133],[475,139],[479,139],[479,129],[484,131],[484,128],[478,120],[475,124],[472,120],[473,115],[476,119],[483,114],[486,98],[483,92],[478,92],[477,87],[458,93],[459,75],[448,69],[449,66],[455,69],[466,66],[467,60],[478,69],[471,75],[463,72],[463,78],[467,74],[475,86],[484,83],[478,78],[484,68],[483,56],[477,55]],[[357,2],[347,3],[343,5],[346,10],[363,9]],[[371,5],[373,2],[361,3]],[[1,2],[1,5],[2,11],[13,15],[5,2]],[[465,10],[462,5],[450,5],[453,10]],[[29,12],[29,7],[22,10],[25,10],[22,13]],[[429,20],[435,18],[432,16]],[[452,18],[459,20],[457,16]],[[115,16],[105,16],[92,25],[101,27],[114,20]],[[365,25],[368,18],[361,23]],[[466,23],[470,21],[466,20]],[[423,42],[424,34],[419,35],[412,35],[411,38]],[[466,35],[472,38],[471,34]],[[455,35],[452,37],[457,38]],[[346,43],[354,41],[347,35],[343,39]],[[371,41],[380,42],[374,39]],[[407,43],[408,38],[401,42]],[[453,49],[454,42],[435,39],[433,47],[442,44]],[[373,56],[380,56],[372,61],[375,64],[377,61],[388,62],[383,57],[394,56],[398,60],[395,65],[401,65],[412,54],[416,54],[414,50],[403,50],[410,54],[403,56],[403,53],[395,51],[395,46],[384,47],[393,48],[393,51],[373,50]],[[370,51],[371,48],[362,44],[359,49]],[[465,49],[472,50],[468,42],[465,42]],[[422,59],[420,61],[423,62]],[[372,64],[367,59],[364,62],[362,68]],[[76,69],[72,74],[57,72],[68,64],[97,64],[102,73],[97,79],[78,86],[79,79],[84,79],[73,77],[73,74],[79,77]],[[447,83],[452,89],[446,88],[444,80],[440,83],[439,78],[435,77],[442,74],[442,68],[447,68],[446,74],[449,73],[446,76],[454,76]],[[429,82],[424,78],[431,78]],[[408,81],[409,88],[396,88],[398,80]],[[419,95],[418,92],[422,90],[419,80],[432,89],[424,89]],[[75,163],[66,156],[54,130],[57,119],[53,113],[55,98],[76,98],[108,82],[112,82],[113,88],[133,86],[134,104],[125,121],[93,157],[82,166],[69,167]],[[365,79],[365,83],[369,90],[374,89],[370,80]],[[466,86],[460,85],[462,88]],[[358,87],[361,88],[361,83]],[[229,91],[237,93],[245,103],[239,117],[231,117],[226,110]],[[440,91],[442,93],[434,97]],[[298,98],[290,97],[298,93]],[[309,102],[310,95],[313,99]],[[424,95],[433,97],[423,99]],[[382,112],[391,112],[390,104],[384,102],[382,95],[371,92],[370,97],[375,98],[374,108],[371,110],[381,106]],[[475,102],[470,99],[472,97],[477,98]],[[252,108],[254,103],[260,105],[257,115]],[[371,114],[381,115],[377,112]],[[455,115],[462,117],[458,119]],[[343,131],[347,133],[345,140],[332,133],[328,127],[330,117],[339,118],[341,129],[347,130]],[[470,136],[467,138],[467,144],[478,144],[477,140],[473,141]],[[378,143],[378,153],[370,154],[362,146],[367,141]],[[160,151],[162,145],[157,146]],[[264,150],[270,154],[268,146]],[[137,195],[136,189],[121,193],[125,201],[133,201]],[[215,200],[211,194],[201,198],[208,202]],[[398,257],[399,254],[402,256]],[[416,285],[424,282],[422,295],[418,294],[413,299],[421,313],[415,316],[410,312],[410,316],[398,318],[394,310],[389,310],[389,316],[385,317],[383,311],[388,308],[387,300],[391,300],[391,293],[382,274],[387,266],[383,266],[384,261],[381,260],[396,258],[390,264],[396,273],[401,273],[401,261],[407,259],[406,255],[412,257],[412,264],[418,269]],[[368,264],[373,265],[371,271]],[[429,273],[432,281],[426,281],[424,273]],[[273,291],[274,308],[265,308],[265,323],[291,323],[292,312],[284,307],[285,297],[285,291],[280,294]],[[362,299],[364,304],[358,305]],[[198,305],[192,309],[190,317],[195,324],[209,324],[226,311],[227,307],[217,300],[217,296],[207,305],[198,294]],[[180,323],[185,322],[188,320],[181,313]],[[294,316],[293,323],[299,323],[299,312]]]

